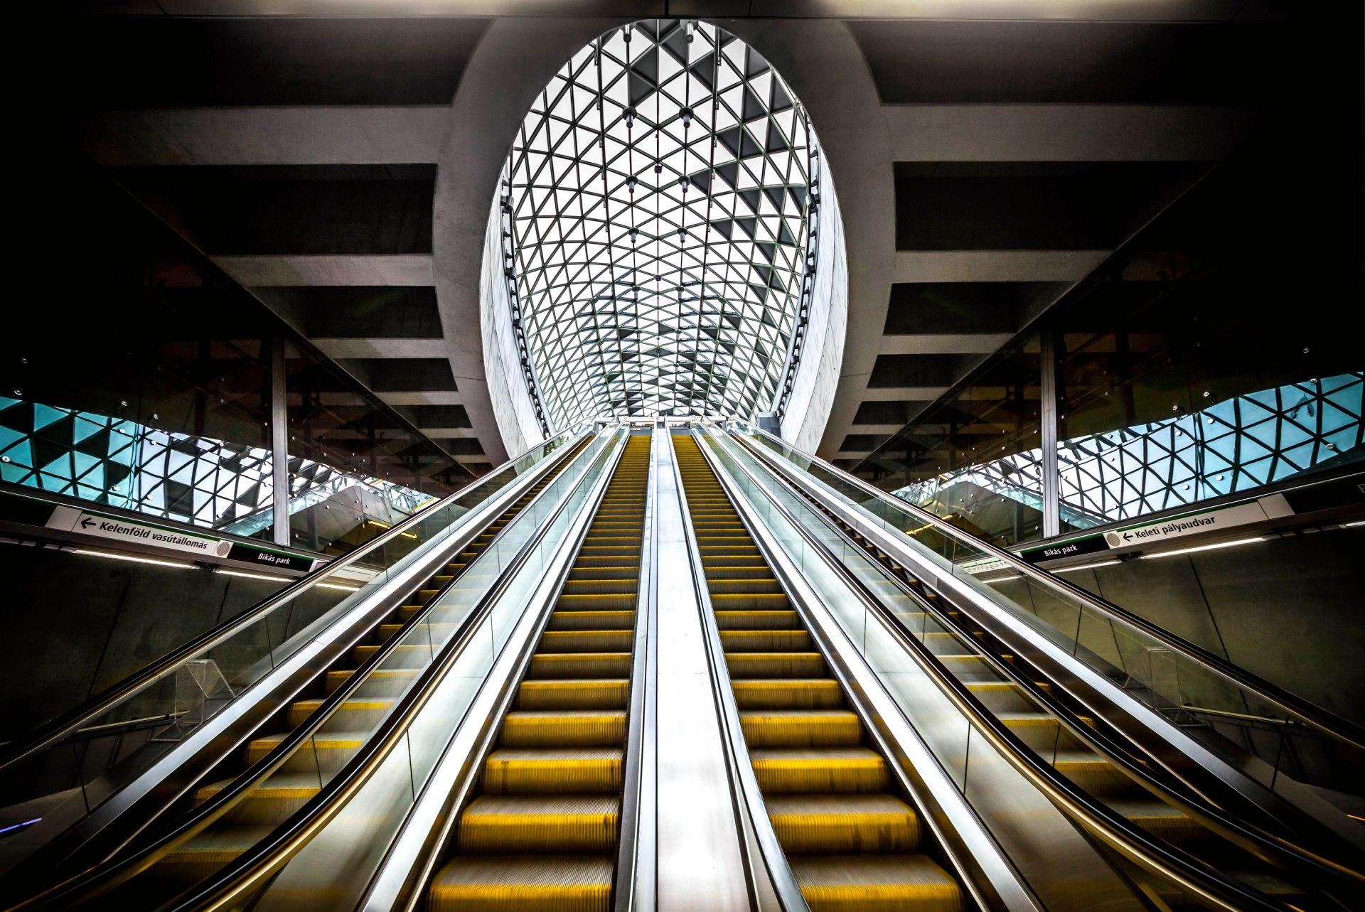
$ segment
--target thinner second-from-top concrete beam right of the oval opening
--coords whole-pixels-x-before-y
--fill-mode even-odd
[[[1080,281],[1108,250],[898,250],[895,281]]]

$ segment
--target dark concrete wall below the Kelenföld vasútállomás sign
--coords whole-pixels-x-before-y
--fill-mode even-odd
[[[0,546],[4,614],[0,616],[0,739],[10,739],[143,668],[190,638],[255,605],[280,584],[207,569],[177,569]],[[293,610],[266,624],[278,644],[348,593],[306,593]],[[255,661],[261,649],[222,650]]]

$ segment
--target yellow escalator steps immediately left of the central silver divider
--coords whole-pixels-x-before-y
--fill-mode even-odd
[[[632,436],[483,758],[429,909],[612,908],[650,436]]]

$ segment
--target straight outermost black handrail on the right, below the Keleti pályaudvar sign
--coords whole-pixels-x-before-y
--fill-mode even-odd
[[[1134,614],[1133,612],[1127,610],[1121,605],[1115,605],[1099,595],[1095,595],[1093,593],[1081,588],[1080,586],[1072,583],[1070,580],[1065,580],[1061,576],[1057,576],[1055,573],[1051,573],[1040,567],[1035,567],[1033,564],[1029,564],[1028,561],[1022,560],[1014,552],[999,547],[998,545],[992,545],[991,542],[987,542],[984,539],[976,538],[975,535],[971,535],[969,532],[957,528],[951,523],[935,516],[934,513],[930,513],[921,507],[916,507],[909,501],[890,496],[886,491],[874,487],[872,485],[868,485],[861,478],[849,475],[848,472],[831,466],[819,456],[812,456],[811,453],[799,451],[786,441],[781,440],[779,437],[763,430],[762,427],[748,425],[747,422],[734,422],[734,423],[743,425],[745,433],[752,433],[773,440],[781,446],[785,446],[786,449],[790,449],[793,453],[797,453],[801,459],[808,459],[812,463],[820,464],[824,470],[833,472],[835,478],[838,478],[839,481],[852,483],[854,487],[878,498],[880,502],[894,507],[895,509],[900,509],[913,516],[916,520],[928,523],[936,531],[950,538],[956,538],[961,542],[965,542],[971,547],[980,549],[988,553],[991,557],[1005,561],[1011,567],[1011,569],[1018,571],[1028,579],[1037,582],[1043,586],[1047,586],[1048,588],[1058,590],[1073,599],[1084,602],[1087,606],[1100,612],[1102,614],[1112,617],[1129,627],[1137,628],[1147,636],[1151,636],[1152,639],[1160,642],[1162,646],[1175,650],[1177,653],[1182,653],[1183,655],[1205,666],[1215,674],[1227,679],[1235,687],[1249,691],[1256,696],[1279,706],[1286,713],[1297,715],[1299,719],[1305,721],[1309,725],[1309,728],[1317,729],[1336,739],[1338,741],[1350,745],[1357,751],[1365,752],[1365,726],[1360,726],[1355,722],[1351,722],[1350,719],[1332,713],[1331,710],[1323,709],[1316,703],[1305,700],[1304,698],[1283,689],[1278,684],[1267,681],[1265,679],[1252,672],[1248,672],[1246,669],[1238,665],[1233,665],[1227,659],[1208,651],[1203,646],[1192,643],[1190,640],[1179,636],[1178,633],[1173,633],[1162,627],[1158,627],[1156,624],[1152,624],[1149,620],[1138,614]]]

